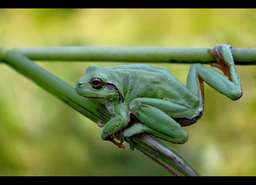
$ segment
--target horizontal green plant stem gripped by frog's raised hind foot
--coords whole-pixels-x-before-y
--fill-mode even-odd
[[[39,47],[15,48],[31,60],[211,63],[208,48],[189,47]],[[237,65],[255,65],[256,48],[232,48]]]

